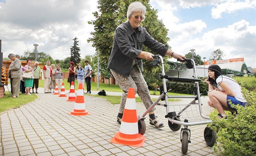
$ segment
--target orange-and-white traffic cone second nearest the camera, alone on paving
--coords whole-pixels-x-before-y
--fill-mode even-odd
[[[91,114],[85,110],[85,97],[84,97],[84,91],[83,91],[83,84],[81,83],[78,86],[74,110],[69,112],[69,114],[74,116],[85,116],[85,115]]]

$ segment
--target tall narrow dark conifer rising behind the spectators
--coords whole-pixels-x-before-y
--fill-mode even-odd
[[[75,37],[74,39],[74,45],[70,47],[70,61],[74,62],[75,65],[81,62],[80,58],[80,47],[78,47],[78,40]]]

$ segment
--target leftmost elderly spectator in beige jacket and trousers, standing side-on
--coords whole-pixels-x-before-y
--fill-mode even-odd
[[[9,54],[8,58],[12,60],[8,71],[11,76],[11,98],[16,98],[19,97],[19,88],[21,83],[21,61],[15,58],[14,54]]]

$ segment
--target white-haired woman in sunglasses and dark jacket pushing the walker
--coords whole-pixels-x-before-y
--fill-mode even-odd
[[[108,67],[112,75],[124,91],[117,122],[121,123],[128,89],[135,88],[142,99],[144,106],[148,109],[153,101],[149,94],[146,81],[141,73],[142,59],[153,60],[151,53],[142,51],[146,45],[150,50],[161,56],[169,55],[176,59],[183,60],[184,56],[174,53],[168,45],[164,45],[149,35],[147,30],[140,26],[145,19],[146,7],[141,2],[133,2],[127,11],[127,21],[119,25],[114,34],[112,51],[108,60]],[[164,124],[158,121],[154,113],[155,107],[149,111],[149,124],[155,127],[163,127]]]

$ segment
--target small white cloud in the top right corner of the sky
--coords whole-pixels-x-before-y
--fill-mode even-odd
[[[236,0],[227,0],[224,3],[217,4],[212,8],[213,19],[222,18],[223,13],[233,13],[237,10],[256,8],[256,0],[245,0],[244,2]]]

